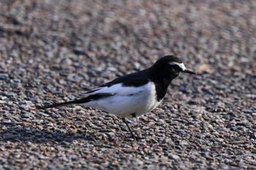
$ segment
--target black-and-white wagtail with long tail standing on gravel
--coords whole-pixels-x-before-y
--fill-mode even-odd
[[[93,90],[80,94],[80,98],[36,106],[37,109],[48,109],[78,104],[91,107],[121,117],[133,139],[135,136],[126,118],[138,118],[159,106],[167,93],[170,82],[181,73],[196,74],[187,69],[182,60],[175,55],[159,58],[151,67],[138,72],[126,74],[105,83]]]

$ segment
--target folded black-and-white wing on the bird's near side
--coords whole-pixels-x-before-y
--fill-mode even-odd
[[[149,80],[146,77],[129,77],[127,79],[116,79],[112,82],[108,82],[105,85],[95,88],[86,93],[82,93],[81,96],[89,97],[99,93],[108,94],[113,96],[118,94],[120,96],[130,95],[132,93],[138,93],[138,87],[146,85]]]

